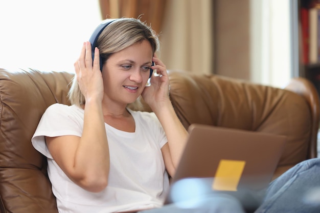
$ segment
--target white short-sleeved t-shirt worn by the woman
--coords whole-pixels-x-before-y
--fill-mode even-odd
[[[59,212],[117,212],[161,207],[169,190],[161,148],[165,132],[154,113],[129,110],[135,132],[105,124],[110,154],[108,186],[88,192],[60,169],[52,158],[44,136],[81,137],[84,110],[76,105],[53,104],[43,114],[32,138],[36,150],[48,159],[48,175]],[[67,142],[66,142],[67,143]]]

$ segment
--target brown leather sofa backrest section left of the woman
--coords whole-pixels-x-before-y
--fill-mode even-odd
[[[0,198],[2,212],[57,212],[47,160],[31,137],[49,105],[66,98],[73,75],[0,69]]]

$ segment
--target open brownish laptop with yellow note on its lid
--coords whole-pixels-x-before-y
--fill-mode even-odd
[[[277,168],[286,137],[202,124],[190,125],[188,132],[165,204],[190,204],[219,193],[235,197],[246,212],[254,212]]]

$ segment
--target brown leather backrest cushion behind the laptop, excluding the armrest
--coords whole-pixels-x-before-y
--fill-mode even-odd
[[[307,158],[311,114],[300,95],[219,75],[170,73],[170,97],[185,128],[200,123],[287,137],[279,166]],[[253,150],[255,151],[255,150]]]

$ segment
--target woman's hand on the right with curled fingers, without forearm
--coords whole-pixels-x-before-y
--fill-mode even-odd
[[[150,106],[152,111],[156,111],[157,108],[166,104],[169,100],[169,77],[166,69],[166,65],[158,59],[156,56],[152,58],[154,66],[151,68],[156,75],[151,76],[151,86],[145,87],[142,92],[142,97],[146,103]]]

